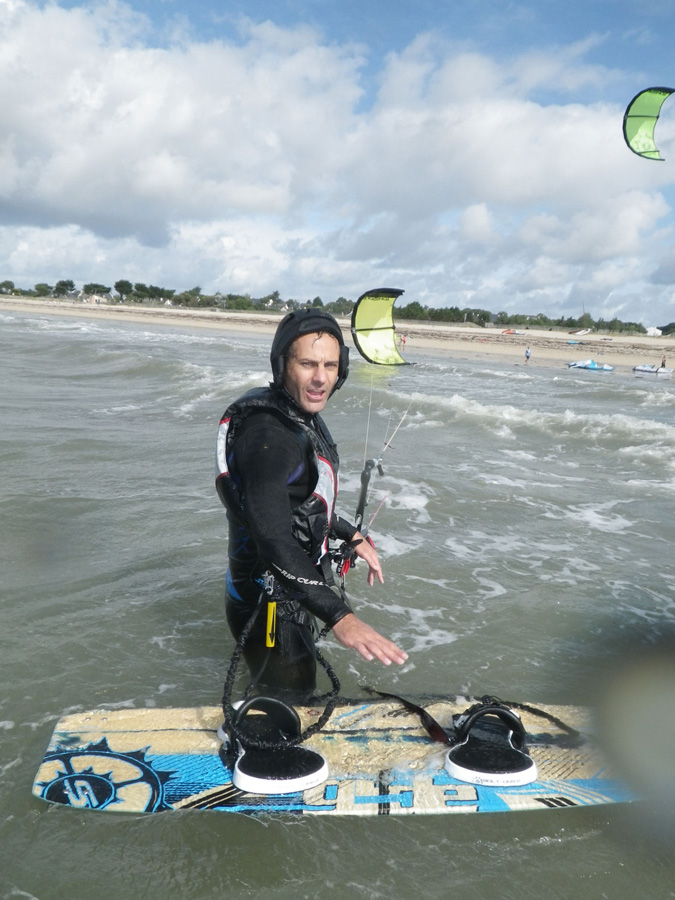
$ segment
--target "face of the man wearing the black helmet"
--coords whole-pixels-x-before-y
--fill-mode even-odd
[[[304,412],[321,412],[340,368],[340,344],[332,334],[303,334],[291,344],[284,387]]]

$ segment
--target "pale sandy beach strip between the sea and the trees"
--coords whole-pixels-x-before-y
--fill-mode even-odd
[[[225,312],[213,309],[181,309],[174,307],[125,306],[82,303],[71,300],[40,300],[22,297],[0,297],[0,311],[36,313],[39,315],[117,320],[165,325],[173,328],[209,328],[224,332],[273,334],[279,322],[278,313]],[[339,320],[345,339],[351,344],[349,318]],[[616,366],[617,371],[631,371],[643,363],[656,364],[666,357],[675,362],[675,340],[672,337],[646,335],[571,335],[561,331],[528,329],[524,334],[503,334],[498,327],[444,325],[430,322],[398,322],[397,330],[407,337],[406,355],[414,358],[416,349],[441,351],[453,359],[483,358],[525,365],[525,350],[530,348],[527,365],[535,368],[567,367],[574,360],[595,359]],[[578,343],[570,344],[570,341]]]

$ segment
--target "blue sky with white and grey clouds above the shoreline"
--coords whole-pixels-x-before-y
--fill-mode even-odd
[[[0,281],[675,320],[672,0],[0,0]]]

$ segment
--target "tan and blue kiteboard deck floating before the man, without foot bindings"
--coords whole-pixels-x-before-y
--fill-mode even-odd
[[[443,727],[467,698],[425,703]],[[430,815],[567,809],[632,800],[591,736],[587,710],[520,706],[535,781],[471,784],[444,765],[447,747],[419,716],[393,700],[341,700],[306,742],[328,763],[327,779],[295,794],[256,795],[234,787],[217,737],[218,707],[94,710],[61,718],[33,784],[50,803],[106,812],[218,810],[250,815]],[[303,727],[321,708],[301,707]]]

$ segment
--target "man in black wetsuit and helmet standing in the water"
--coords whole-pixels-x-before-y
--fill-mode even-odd
[[[272,344],[273,382],[231,404],[218,432],[216,486],[229,521],[227,619],[238,638],[257,610],[244,657],[257,684],[277,695],[307,697],[314,690],[315,617],[367,660],[407,659],[329,586],[329,537],[354,543],[370,585],[384,580],[375,548],[334,512],[338,454],[319,413],[347,378],[348,353],[328,313],[289,313]]]

